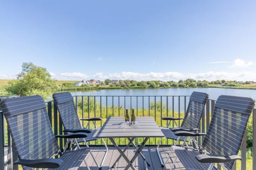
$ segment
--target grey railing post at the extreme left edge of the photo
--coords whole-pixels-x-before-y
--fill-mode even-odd
[[[3,137],[0,140],[0,169],[4,169],[4,115],[2,111],[0,111],[0,137]]]

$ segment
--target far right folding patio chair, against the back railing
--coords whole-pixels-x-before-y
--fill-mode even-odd
[[[205,107],[205,104],[206,104],[206,101],[208,100],[208,98],[209,98],[208,94],[206,94],[204,92],[194,91],[189,98],[189,104],[188,104],[187,111],[185,113],[184,118],[162,117],[162,120],[168,121],[166,127],[161,127],[165,138],[176,140],[174,145],[177,145],[178,141],[183,141],[182,147],[185,145],[188,147],[187,140],[189,140],[190,143],[193,144],[193,147],[199,149],[197,146],[196,140],[193,137],[177,136],[174,134],[174,132],[180,131],[180,130],[198,131],[199,130],[198,126],[201,121],[202,114],[204,113],[204,107]],[[180,127],[178,127],[177,123],[175,122],[178,120],[183,120]],[[175,123],[175,125],[177,127],[169,128],[172,121]],[[164,162],[161,157],[161,154],[159,153],[159,146],[160,146],[162,140],[163,140],[163,138],[161,138],[161,140],[158,143],[157,154],[158,154],[159,160],[161,161],[162,166],[164,166],[164,164],[167,162],[167,159]]]

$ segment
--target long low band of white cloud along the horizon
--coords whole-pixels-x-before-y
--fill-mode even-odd
[[[137,81],[149,81],[149,80],[162,80],[162,81],[179,81],[186,79],[194,80],[236,80],[236,81],[256,81],[255,72],[204,72],[204,73],[190,73],[183,74],[179,72],[149,72],[149,73],[135,73],[135,72],[121,72],[121,73],[95,73],[94,75],[86,75],[84,73],[50,73],[52,79],[55,80],[77,80],[83,79],[97,79],[97,80],[137,80]],[[0,79],[16,79],[17,75],[0,74]]]

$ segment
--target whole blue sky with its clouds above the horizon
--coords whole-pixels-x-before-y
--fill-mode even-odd
[[[256,81],[256,1],[1,1],[0,79]]]

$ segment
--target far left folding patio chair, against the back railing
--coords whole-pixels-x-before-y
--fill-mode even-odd
[[[82,121],[88,121],[86,128],[89,128],[90,121],[94,124],[94,129],[86,129],[83,128],[81,125],[81,122],[79,121],[79,117],[74,105],[73,96],[70,94],[70,92],[59,92],[52,95],[55,105],[58,108],[58,111],[60,113],[61,121],[64,126],[64,132],[67,134],[70,133],[86,133],[86,138],[80,138],[80,139],[68,139],[66,142],[64,150],[67,150],[68,146],[70,146],[72,143],[75,142],[76,147],[80,149],[81,147],[78,145],[78,143],[84,142],[86,147],[89,148],[89,145],[87,142],[89,141],[95,141],[98,140],[98,138],[93,137],[95,133],[99,131],[99,128],[97,127],[95,121],[101,121],[101,117],[92,117],[92,118],[83,118]],[[105,155],[102,158],[100,167],[103,165],[104,160],[107,156],[108,147],[106,145],[106,142],[101,139],[102,142],[105,145]],[[95,157],[92,155],[93,159],[95,160]]]

